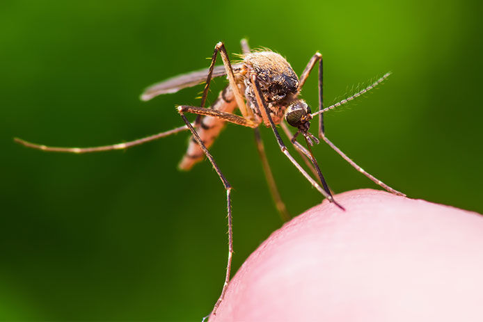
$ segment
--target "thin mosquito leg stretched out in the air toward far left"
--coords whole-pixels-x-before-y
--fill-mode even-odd
[[[100,147],[49,147],[47,145],[40,145],[35,143],[30,143],[26,140],[22,140],[21,138],[14,138],[13,140],[17,143],[25,145],[26,147],[31,147],[33,149],[47,151],[47,152],[66,152],[66,153],[89,153],[89,152],[102,152],[102,151],[111,151],[111,150],[125,150],[128,147],[134,147],[134,145],[141,145],[146,142],[150,142],[152,140],[157,140],[158,138],[164,138],[165,136],[170,136],[171,134],[175,134],[177,132],[186,131],[188,127],[186,125],[182,127],[177,127],[175,129],[161,132],[158,134],[154,134],[152,136],[146,136],[145,138],[139,138],[138,140],[132,140],[129,142],[124,143],[117,143],[113,145],[103,145]]]

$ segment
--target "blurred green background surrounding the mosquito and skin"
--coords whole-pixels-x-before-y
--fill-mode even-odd
[[[392,71],[326,114],[328,137],[411,198],[483,211],[482,6],[477,1],[6,1],[0,3],[0,320],[198,321],[221,291],[225,193],[206,161],[177,171],[186,133],[126,152],[53,154],[13,143],[119,143],[180,126],[145,86],[207,67],[223,40],[287,57],[324,55],[326,104]],[[221,63],[221,61],[219,62]],[[209,99],[225,81],[217,79]],[[317,106],[317,81],[303,97]],[[312,131],[315,131],[312,130]],[[262,136],[291,214],[321,200]],[[212,152],[235,190],[234,273],[281,225],[250,129]],[[321,144],[336,193],[378,188]]]

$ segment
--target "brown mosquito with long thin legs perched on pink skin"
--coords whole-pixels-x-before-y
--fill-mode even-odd
[[[262,159],[262,166],[264,168],[265,176],[269,184],[269,189],[276,203],[276,207],[281,216],[286,220],[290,218],[288,216],[285,204],[280,198],[278,189],[274,181],[274,177],[271,175],[267,156],[264,153],[264,146],[260,138],[260,132],[258,127],[264,124],[267,127],[271,127],[274,132],[274,136],[280,147],[280,151],[285,154],[287,159],[301,172],[303,177],[306,177],[308,182],[319,191],[325,198],[335,204],[340,210],[344,210],[344,207],[333,198],[331,190],[328,188],[322,171],[319,168],[317,160],[312,154],[312,146],[319,143],[319,138],[324,140],[330,147],[335,150],[343,159],[351,164],[356,170],[363,173],[366,177],[373,182],[386,189],[390,193],[396,195],[403,195],[399,191],[390,188],[386,184],[383,184],[379,179],[376,179],[369,173],[365,172],[363,168],[358,166],[354,161],[344,154],[338,147],[336,147],[325,135],[324,131],[324,118],[323,113],[336,108],[342,104],[345,104],[356,97],[363,95],[365,92],[371,90],[379,83],[384,81],[388,74],[383,75],[380,79],[367,86],[363,90],[356,92],[354,95],[343,99],[342,101],[324,108],[323,105],[323,61],[322,54],[316,52],[310,61],[308,62],[305,70],[303,70],[301,77],[297,77],[290,64],[273,51],[251,51],[248,47],[248,42],[242,40],[242,58],[239,63],[232,64],[228,58],[228,53],[223,45],[223,42],[219,42],[214,47],[211,64],[207,70],[200,70],[197,72],[191,72],[188,74],[182,74],[180,76],[161,81],[153,86],[150,86],[143,92],[141,99],[147,101],[161,94],[177,92],[183,88],[196,86],[205,81],[205,88],[201,97],[200,106],[187,106],[182,105],[177,107],[178,113],[184,122],[184,126],[177,127],[171,131],[164,131],[159,134],[140,138],[126,143],[118,143],[114,145],[105,145],[100,147],[50,147],[47,145],[38,145],[29,143],[25,140],[15,138],[18,143],[25,145],[26,147],[33,147],[38,150],[51,151],[51,152],[70,152],[70,153],[86,153],[86,152],[100,152],[107,150],[123,150],[134,145],[140,145],[151,140],[156,140],[171,134],[175,134],[180,131],[191,131],[191,140],[186,154],[184,154],[179,168],[182,170],[189,170],[194,164],[198,163],[207,157],[212,164],[214,170],[219,175],[223,186],[225,187],[226,200],[227,200],[227,213],[228,213],[228,260],[225,272],[225,280],[221,295],[216,301],[211,314],[216,314],[216,309],[219,307],[225,291],[230,281],[230,270],[232,263],[233,253],[233,235],[232,235],[232,209],[231,209],[231,189],[230,183],[225,178],[221,169],[216,164],[212,154],[210,154],[208,148],[212,145],[214,140],[221,129],[225,126],[226,122],[235,123],[244,127],[251,127],[255,131],[255,139],[257,142],[258,152]],[[223,65],[215,66],[216,57],[221,55]],[[319,106],[315,113],[312,113],[310,106],[299,98],[299,92],[306,83],[312,69],[319,63]],[[211,108],[205,107],[207,100],[207,93],[209,90],[210,82],[214,77],[227,77],[228,86],[220,92],[218,98],[212,103]],[[238,109],[241,115],[235,114],[235,110]],[[187,113],[196,114],[196,120],[190,122],[186,115]],[[310,134],[310,122],[315,116],[319,115],[319,133],[318,137]],[[287,150],[287,146],[283,142],[278,129],[277,124],[280,124],[285,134],[290,138],[290,143],[294,145],[296,151],[301,154],[303,161],[310,168],[316,179],[313,179],[311,175],[304,170],[296,159]],[[287,124],[296,129],[292,134]],[[296,139],[302,136],[305,141],[303,146]]]

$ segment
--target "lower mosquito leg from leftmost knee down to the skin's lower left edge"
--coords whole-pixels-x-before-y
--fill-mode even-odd
[[[181,118],[183,119],[184,123],[186,123],[187,127],[191,131],[191,134],[193,134],[193,138],[198,142],[200,147],[203,149],[203,152],[205,152],[205,155],[207,156],[209,162],[212,163],[212,166],[216,173],[219,175],[221,179],[221,183],[225,187],[226,190],[226,207],[227,207],[227,212],[228,212],[228,261],[226,264],[226,274],[225,274],[225,282],[223,283],[223,289],[221,289],[221,295],[219,299],[216,301],[216,304],[214,305],[212,314],[216,314],[216,309],[218,309],[221,301],[225,297],[225,292],[226,288],[228,287],[228,282],[230,282],[230,271],[231,271],[231,266],[232,266],[232,255],[233,255],[233,231],[232,231],[232,209],[231,209],[231,199],[230,199],[230,192],[232,190],[232,186],[230,186],[230,183],[228,180],[225,178],[223,173],[221,173],[220,168],[216,165],[216,162],[213,159],[212,154],[209,153],[208,149],[205,147],[205,143],[203,143],[203,140],[201,140],[200,136],[198,136],[198,133],[196,133],[195,129],[191,126],[191,123],[189,120],[184,116],[183,111],[178,108],[178,111],[180,112]]]

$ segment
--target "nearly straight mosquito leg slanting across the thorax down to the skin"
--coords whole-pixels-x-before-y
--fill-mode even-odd
[[[275,124],[274,124],[274,120],[271,119],[267,104],[265,103],[262,95],[260,94],[262,91],[260,90],[260,84],[258,83],[256,74],[251,74],[251,83],[253,85],[253,90],[255,92],[255,97],[257,99],[257,104],[260,108],[260,112],[262,113],[262,117],[264,118],[264,120],[269,120],[269,124],[271,126],[272,131],[274,131],[274,135],[276,137],[278,146],[280,147],[280,150],[282,151],[282,153],[285,154],[285,156],[287,156],[287,158],[290,160],[290,162],[292,162],[292,164],[301,172],[303,177],[306,177],[308,182],[310,182],[310,184],[312,184],[312,186],[314,188],[316,188],[317,191],[319,191],[319,193],[322,193],[322,195],[324,195],[324,197],[327,198],[328,201],[333,202],[340,209],[345,210],[344,207],[342,207],[340,204],[338,204],[338,202],[335,202],[332,195],[330,195],[324,189],[322,189],[319,186],[319,184],[317,184],[317,182],[315,182],[315,180],[312,179],[312,177],[310,177],[310,175],[308,175],[306,170],[303,170],[303,168],[299,165],[299,163],[297,163],[297,161],[293,158],[293,156],[290,154],[290,152],[288,152],[287,147],[285,146],[282,138],[280,137],[280,134],[278,134],[278,131],[277,131]]]

